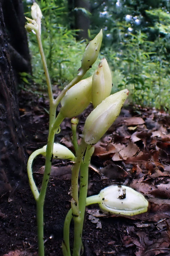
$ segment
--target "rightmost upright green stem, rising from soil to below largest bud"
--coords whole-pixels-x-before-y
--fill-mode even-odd
[[[84,222],[84,213],[86,207],[86,197],[87,197],[87,188],[88,188],[88,174],[89,174],[89,164],[92,154],[94,153],[94,146],[88,145],[86,149],[86,154],[84,161],[81,162],[80,166],[80,193],[79,193],[79,210],[80,210],[80,219],[79,221],[74,222],[74,247],[73,247],[73,256],[80,256],[82,244],[82,232],[83,232],[83,222]]]

